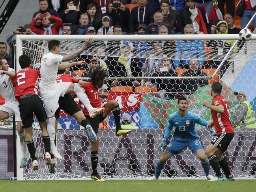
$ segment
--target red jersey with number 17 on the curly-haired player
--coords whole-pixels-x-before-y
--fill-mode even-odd
[[[91,105],[94,108],[101,108],[101,98],[99,97],[99,89],[95,88],[92,82],[82,84],[82,88],[84,89]],[[84,104],[79,101],[78,106],[82,109],[82,112],[85,116],[88,116],[88,110],[84,107]]]

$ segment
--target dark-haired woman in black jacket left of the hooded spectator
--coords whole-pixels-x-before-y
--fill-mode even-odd
[[[89,24],[91,24],[96,32],[101,28],[101,14],[96,12],[96,6],[90,4],[87,6],[87,13],[89,15]]]

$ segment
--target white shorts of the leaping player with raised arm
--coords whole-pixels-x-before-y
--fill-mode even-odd
[[[39,89],[40,97],[43,99],[47,117],[52,117],[55,115],[55,112],[59,107],[59,98],[64,97],[70,84],[70,82],[57,83],[56,89],[51,91]]]

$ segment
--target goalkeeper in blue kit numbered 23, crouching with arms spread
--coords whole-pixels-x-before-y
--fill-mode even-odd
[[[187,99],[185,97],[178,98],[178,107],[179,111],[170,115],[168,119],[169,124],[165,130],[163,141],[158,145],[158,151],[161,151],[161,147],[165,146],[166,139],[170,137],[173,127],[175,127],[174,138],[166,147],[162,157],[158,161],[155,175],[150,177],[149,180],[158,179],[166,160],[174,154],[179,154],[184,147],[189,147],[189,149],[200,159],[204,172],[206,173],[206,178],[209,180],[213,179],[213,176],[209,174],[209,162],[195,127],[195,124],[198,123],[208,128],[209,123],[197,114],[187,110]],[[216,134],[214,129],[212,129],[211,132],[212,135]]]

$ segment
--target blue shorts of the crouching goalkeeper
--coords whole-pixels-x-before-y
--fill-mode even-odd
[[[179,154],[185,147],[189,147],[194,154],[196,154],[198,149],[204,149],[199,139],[191,139],[189,141],[178,141],[173,139],[165,150],[174,155]]]

